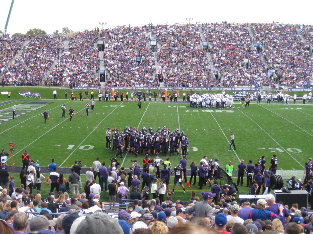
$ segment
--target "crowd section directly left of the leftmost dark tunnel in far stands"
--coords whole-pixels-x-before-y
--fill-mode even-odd
[[[99,53],[94,47],[98,31],[78,32],[69,39],[69,47],[48,76],[48,83],[62,86],[99,86]]]

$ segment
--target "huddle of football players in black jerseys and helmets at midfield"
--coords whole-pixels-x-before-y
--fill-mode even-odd
[[[185,132],[179,132],[179,129],[170,131],[166,126],[157,128],[155,132],[152,131],[152,128],[146,129],[142,127],[141,130],[137,128],[131,128],[126,126],[124,132],[119,132],[118,129],[113,129],[112,142],[113,149],[118,148],[118,140],[121,137],[121,143],[124,145],[124,150],[130,154],[135,154],[135,157],[138,157],[138,154],[149,154],[149,156],[156,155],[162,152],[161,156],[167,156],[168,151],[169,155],[177,156],[180,155],[179,148],[182,150],[183,155],[188,155],[188,138]]]

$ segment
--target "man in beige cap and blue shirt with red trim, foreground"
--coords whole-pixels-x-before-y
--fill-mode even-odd
[[[281,222],[283,222],[283,210],[284,206],[279,205],[278,210],[279,210],[279,215],[274,214],[271,211],[265,210],[266,207],[266,201],[264,199],[259,199],[257,201],[257,208],[254,210],[251,210],[249,212],[248,218],[252,219],[253,221],[260,219],[269,219],[270,221],[273,221],[273,219],[279,218]]]

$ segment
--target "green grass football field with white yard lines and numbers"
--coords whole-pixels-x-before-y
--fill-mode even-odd
[[[66,105],[65,118],[61,118],[63,104]],[[13,105],[17,107],[18,119],[12,119]],[[72,121],[67,115],[70,106],[76,113]],[[45,109],[50,116],[47,124],[42,117]],[[123,131],[126,126],[151,127],[156,131],[165,125],[171,131],[176,128],[184,131],[189,140],[188,164],[192,161],[198,164],[206,155],[208,159],[218,158],[222,168],[228,161],[233,161],[237,168],[239,159],[256,163],[264,155],[268,168],[271,155],[276,154],[278,170],[290,177],[292,171],[300,173],[312,156],[312,103],[253,102],[251,107],[241,108],[236,101],[233,108],[217,110],[193,109],[186,102],[142,102],[139,109],[136,102],[101,101],[96,102],[95,112],[90,110],[87,117],[85,101],[21,100],[2,102],[0,112],[1,148],[9,152],[9,143],[14,143],[15,166],[22,165],[21,154],[25,149],[42,167],[48,166],[52,158],[58,167],[71,167],[75,160],[81,160],[82,167],[89,167],[97,157],[108,164],[114,153],[105,149],[105,131],[108,127]],[[230,131],[235,136],[236,151],[228,151]],[[121,165],[131,166],[134,155],[124,152],[123,156],[118,158]],[[171,158],[172,165],[181,159],[176,155]]]

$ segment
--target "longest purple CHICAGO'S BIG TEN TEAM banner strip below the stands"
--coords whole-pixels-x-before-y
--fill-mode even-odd
[[[77,88],[77,87],[76,87]],[[106,87],[110,90],[205,90],[205,91],[259,91],[259,88],[219,87]]]

